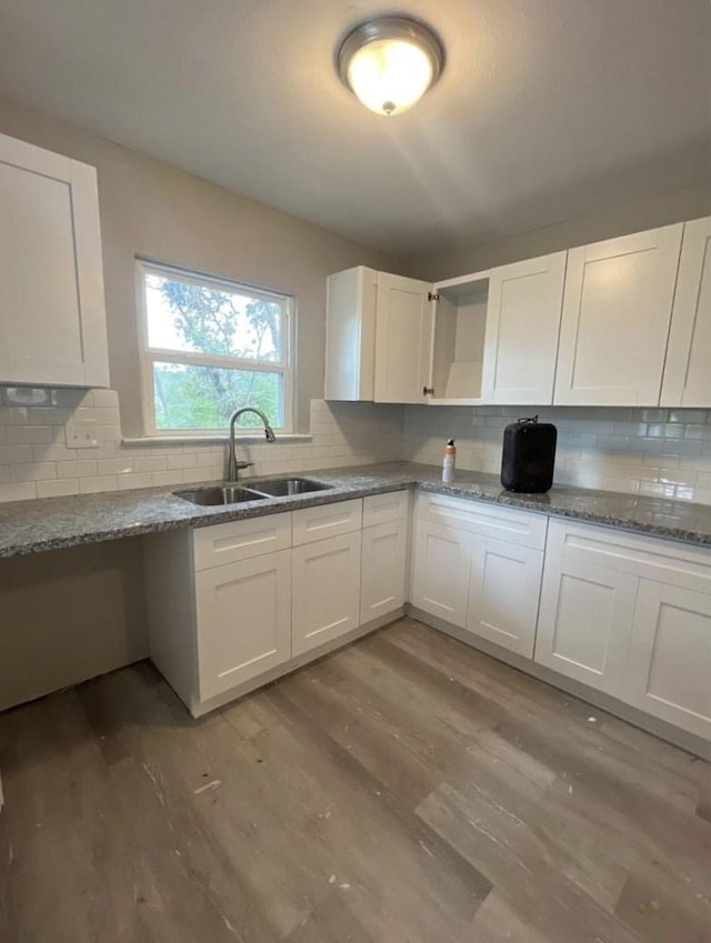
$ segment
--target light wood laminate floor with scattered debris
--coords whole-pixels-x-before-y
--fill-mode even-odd
[[[411,620],[201,721],[117,671],[0,769],[3,943],[711,941],[709,768]]]

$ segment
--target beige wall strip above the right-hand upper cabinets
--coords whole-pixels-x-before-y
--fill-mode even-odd
[[[711,180],[647,200],[601,201],[599,212],[592,215],[561,220],[497,242],[444,245],[411,255],[404,268],[412,278],[439,281],[710,213]]]

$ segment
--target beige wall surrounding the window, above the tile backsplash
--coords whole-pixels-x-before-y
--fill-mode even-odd
[[[140,435],[133,259],[146,255],[292,294],[298,303],[297,424],[323,394],[326,277],[392,261],[184,173],[0,98],[0,132],[98,169],[111,384],[122,432]],[[280,156],[284,173],[288,157]]]

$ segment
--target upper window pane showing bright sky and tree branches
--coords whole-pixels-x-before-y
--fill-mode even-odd
[[[189,279],[144,275],[148,345],[279,363],[282,302],[248,289],[220,289]]]

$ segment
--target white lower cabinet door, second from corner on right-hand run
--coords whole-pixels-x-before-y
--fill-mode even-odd
[[[543,552],[474,536],[467,629],[533,658]]]

